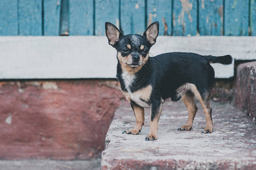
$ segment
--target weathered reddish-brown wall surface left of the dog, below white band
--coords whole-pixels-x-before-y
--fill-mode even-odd
[[[115,83],[0,82],[0,159],[98,158],[120,104]]]

